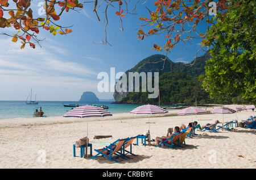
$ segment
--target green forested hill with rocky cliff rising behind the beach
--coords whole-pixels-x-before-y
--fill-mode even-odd
[[[203,56],[197,57],[195,64],[192,66],[168,60],[165,61],[163,66],[163,62],[158,61],[164,58],[164,55],[149,56],[125,73],[128,75],[129,72],[159,72],[159,94],[160,103],[162,104],[195,103],[196,99],[197,103],[227,103],[232,101],[240,103],[237,101],[238,99],[241,100],[241,97],[233,99],[230,97],[225,100],[210,99],[209,94],[201,86],[198,77],[205,73],[205,61],[210,59],[209,51]],[[148,92],[118,93],[115,91],[114,98],[119,103],[158,104],[159,102],[159,98],[148,99]]]

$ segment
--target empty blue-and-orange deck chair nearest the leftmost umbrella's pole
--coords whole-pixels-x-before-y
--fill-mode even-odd
[[[92,158],[90,158],[91,160],[98,157],[98,156],[105,156],[107,158],[109,158],[112,161],[115,162],[119,162],[117,160],[114,160],[114,155],[115,156],[119,156],[122,157],[120,154],[122,153],[117,153],[118,151],[122,152],[122,148],[123,145],[125,143],[125,141],[127,141],[127,139],[118,139],[116,141],[114,141],[114,143],[110,144],[109,146],[106,146],[105,148],[102,149],[94,149],[97,154],[95,156],[93,156]],[[123,159],[125,159],[124,157],[122,157]]]

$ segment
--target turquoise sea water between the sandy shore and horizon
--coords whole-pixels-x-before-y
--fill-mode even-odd
[[[63,116],[72,107],[64,107],[63,104],[98,105],[108,106],[112,114],[130,112],[139,104],[111,104],[111,102],[71,102],[71,101],[40,101],[39,104],[26,104],[26,101],[0,101],[0,119],[32,118],[35,108],[42,107],[44,117]]]

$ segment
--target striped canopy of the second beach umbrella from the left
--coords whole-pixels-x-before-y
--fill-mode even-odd
[[[130,114],[166,114],[168,111],[166,111],[164,108],[146,104],[139,106],[135,108],[134,110],[130,111]]]

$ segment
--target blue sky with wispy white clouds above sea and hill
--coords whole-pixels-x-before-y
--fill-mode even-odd
[[[41,1],[32,1],[33,15],[38,15]],[[108,10],[107,38],[111,44],[98,44],[105,40],[105,15],[103,6],[98,11],[101,22],[93,12],[93,5],[86,3],[79,12],[63,13],[56,23],[61,26],[72,26],[72,33],[53,36],[41,30],[38,37],[44,39],[39,47],[32,49],[28,44],[20,49],[20,41],[13,43],[11,37],[0,35],[0,101],[26,101],[32,88],[32,100],[36,101],[79,101],[84,91],[92,91],[99,99],[113,99],[113,92],[100,92],[97,85],[102,79],[98,74],[106,72],[114,81],[118,78],[110,76],[110,68],[115,74],[126,72],[144,58],[162,54],[150,50],[153,44],[162,45],[166,41],[164,35],[150,36],[138,41],[138,28],[142,23],[139,17],[148,17],[146,6],[155,6],[139,2],[135,13],[126,14],[123,20],[123,32],[117,9]],[[134,6],[130,7],[131,11]],[[36,11],[38,10],[38,11]],[[202,31],[204,27],[202,26]],[[14,28],[1,28],[1,32],[16,34]],[[203,31],[204,32],[204,31]],[[167,55],[173,62],[188,63],[194,60],[201,40],[191,41],[192,45],[179,43]],[[197,56],[205,52],[200,51]]]

